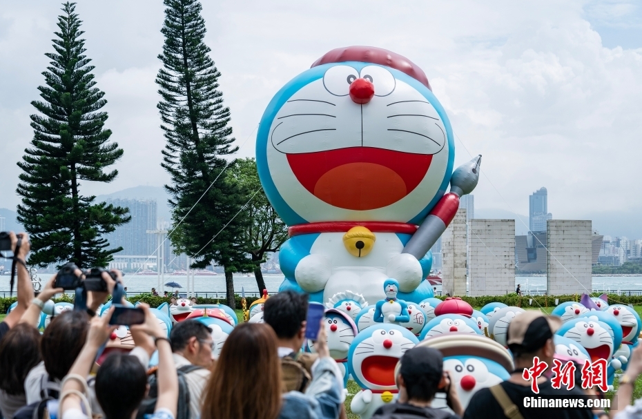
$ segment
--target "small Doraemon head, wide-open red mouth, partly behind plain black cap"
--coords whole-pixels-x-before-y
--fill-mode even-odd
[[[362,389],[396,390],[395,367],[419,341],[396,324],[378,323],[360,331],[350,345],[348,368]]]

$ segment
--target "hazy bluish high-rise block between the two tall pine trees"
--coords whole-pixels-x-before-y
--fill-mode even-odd
[[[111,249],[121,246],[122,251],[117,255],[152,255],[156,250],[156,237],[148,234],[148,230],[156,228],[155,199],[108,199],[108,204],[129,208],[131,221],[109,233],[105,238]]]

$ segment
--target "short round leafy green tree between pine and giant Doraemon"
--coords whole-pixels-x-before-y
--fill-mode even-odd
[[[245,210],[251,220],[248,229],[245,231],[245,240],[249,247],[247,252],[255,264],[254,276],[259,291],[265,289],[261,266],[266,261],[266,253],[276,252],[283,242],[288,238],[288,228],[280,219],[270,202],[268,201],[259,174],[256,168],[256,160],[253,158],[239,159],[237,170],[231,172],[249,193],[254,194]]]

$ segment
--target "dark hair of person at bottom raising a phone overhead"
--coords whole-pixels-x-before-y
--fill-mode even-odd
[[[147,373],[135,356],[113,353],[96,375],[96,398],[107,419],[130,418],[147,391]]]

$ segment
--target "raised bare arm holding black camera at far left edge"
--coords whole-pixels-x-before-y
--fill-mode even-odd
[[[7,315],[7,317],[0,323],[0,341],[4,335],[18,324],[20,318],[27,310],[31,300],[33,300],[33,286],[31,284],[31,277],[27,270],[27,255],[31,249],[29,243],[29,236],[27,233],[20,233],[16,235],[13,231],[0,232],[0,251],[12,251],[12,272],[11,272],[11,285],[13,289],[13,278],[17,270],[18,284],[16,293],[18,298],[17,306]]]

